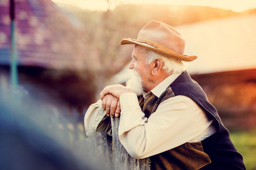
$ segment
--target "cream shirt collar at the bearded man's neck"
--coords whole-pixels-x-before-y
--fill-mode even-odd
[[[169,76],[167,76],[166,79],[162,80],[161,83],[159,83],[156,87],[154,87],[152,89],[152,93],[157,96],[160,97],[162,95],[162,93],[166,90],[166,88],[174,82],[175,79],[177,79],[177,77],[181,75],[181,74],[171,74]]]

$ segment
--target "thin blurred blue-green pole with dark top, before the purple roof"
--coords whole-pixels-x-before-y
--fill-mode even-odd
[[[11,18],[11,85],[16,90],[18,86],[17,53],[15,42],[15,2],[10,0],[10,18]]]

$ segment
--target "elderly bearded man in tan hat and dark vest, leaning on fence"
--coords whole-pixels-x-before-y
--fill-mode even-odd
[[[245,169],[229,132],[182,61],[185,39],[173,27],[151,21],[137,39],[127,86],[107,86],[85,115],[87,135],[107,131],[120,115],[119,140],[133,158],[149,157],[152,169]]]

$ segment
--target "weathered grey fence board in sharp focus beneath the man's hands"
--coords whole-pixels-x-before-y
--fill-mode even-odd
[[[114,152],[114,168],[119,169],[150,169],[150,159],[134,159],[121,145],[118,138],[119,118],[111,118],[112,125],[112,140],[113,140],[113,152]]]

